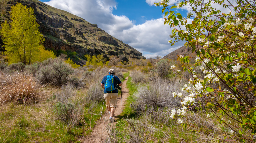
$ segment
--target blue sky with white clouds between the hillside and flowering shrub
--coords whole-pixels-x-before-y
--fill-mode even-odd
[[[160,0],[40,0],[97,24],[108,34],[137,49],[146,58],[165,56],[184,45],[171,46],[171,28],[164,25]],[[178,3],[172,1],[172,4]],[[187,10],[181,9],[183,14]]]

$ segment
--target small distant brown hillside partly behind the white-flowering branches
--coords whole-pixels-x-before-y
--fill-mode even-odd
[[[188,47],[186,48],[186,46],[182,46],[180,47],[179,49],[169,53],[168,55],[164,56],[163,58],[169,58],[169,59],[172,59],[172,60],[177,60],[177,57],[179,55],[184,55],[184,56],[196,56],[196,53],[193,53],[192,54],[192,48],[191,47]]]

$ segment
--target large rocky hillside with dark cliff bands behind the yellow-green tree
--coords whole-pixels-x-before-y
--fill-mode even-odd
[[[107,34],[96,24],[91,24],[67,11],[53,8],[38,0],[0,1],[0,23],[10,21],[9,11],[17,2],[32,7],[40,24],[39,30],[45,38],[45,48],[53,50],[57,56],[65,51],[79,64],[84,64],[85,54],[105,54],[106,58],[112,55],[121,59],[145,58],[139,51]],[[2,44],[0,40],[0,50],[3,50]],[[72,52],[76,54],[69,54]]]

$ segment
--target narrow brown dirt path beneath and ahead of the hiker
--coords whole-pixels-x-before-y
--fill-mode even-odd
[[[129,95],[129,90],[126,88],[126,82],[128,77],[125,78],[122,85],[122,103],[124,109],[124,103]],[[122,104],[121,104],[121,94],[117,98],[117,108],[115,111],[115,120],[117,120],[118,115],[122,113]],[[105,113],[101,116],[101,120],[96,122],[96,125],[92,131],[92,135],[87,136],[83,139],[83,143],[103,143],[106,138],[109,136],[110,129],[115,127],[116,122],[109,123],[109,114],[106,109]]]

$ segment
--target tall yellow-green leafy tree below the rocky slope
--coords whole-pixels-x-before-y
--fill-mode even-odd
[[[52,52],[43,47],[44,38],[38,30],[33,8],[17,3],[11,7],[11,23],[2,24],[0,34],[4,42],[4,54],[8,55],[10,63],[22,62],[31,64],[42,60],[42,53],[55,57]],[[45,57],[44,57],[45,58]]]

